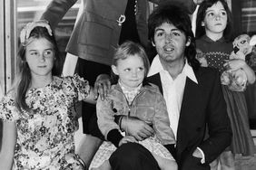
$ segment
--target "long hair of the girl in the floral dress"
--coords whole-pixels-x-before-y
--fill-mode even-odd
[[[29,90],[31,86],[31,71],[28,66],[28,63],[25,59],[25,52],[26,46],[30,42],[33,42],[34,39],[44,38],[51,42],[54,46],[54,67],[52,70],[53,76],[60,76],[61,75],[61,61],[59,57],[59,50],[57,48],[57,43],[55,41],[54,36],[51,36],[47,29],[44,27],[34,27],[32,32],[30,33],[29,38],[26,40],[25,43],[20,44],[19,51],[18,51],[18,73],[15,78],[15,84],[12,90],[15,90],[15,106],[21,113],[23,113],[23,109],[30,112],[31,109],[27,106],[25,102],[26,92]]]

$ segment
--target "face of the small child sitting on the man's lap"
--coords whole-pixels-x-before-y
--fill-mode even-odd
[[[112,70],[114,74],[119,76],[119,80],[125,88],[133,89],[143,82],[144,63],[137,54],[130,55],[124,60],[118,60],[116,66],[112,65]]]

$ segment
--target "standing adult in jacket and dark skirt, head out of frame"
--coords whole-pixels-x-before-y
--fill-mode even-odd
[[[53,0],[42,15],[42,20],[27,25],[23,34],[29,34],[38,24],[48,27],[48,23],[55,28],[76,1]],[[162,1],[152,0],[156,4]],[[86,80],[94,83],[99,74],[109,73],[114,49],[126,40],[140,42],[146,47],[149,42],[146,24],[147,3],[147,0],[84,0],[84,12],[75,24],[66,48],[67,52],[79,57],[77,63],[80,76],[86,76]],[[192,14],[195,8],[193,1],[182,0],[182,3],[189,7]],[[98,89],[101,83],[95,85],[95,89]],[[84,163],[89,165],[103,136],[96,125],[95,106],[84,103],[82,112],[85,111],[83,127],[87,136],[83,140],[80,156]]]

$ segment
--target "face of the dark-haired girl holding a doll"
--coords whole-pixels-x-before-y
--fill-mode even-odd
[[[228,16],[222,3],[218,1],[216,4],[207,8],[202,26],[205,26],[205,33],[209,37],[212,35],[223,35],[227,26]]]

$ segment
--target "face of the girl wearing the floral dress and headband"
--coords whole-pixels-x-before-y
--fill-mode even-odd
[[[52,76],[54,46],[45,38],[34,39],[26,46],[25,60],[33,76]]]

